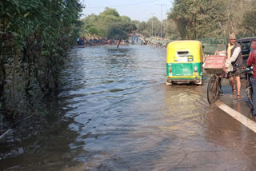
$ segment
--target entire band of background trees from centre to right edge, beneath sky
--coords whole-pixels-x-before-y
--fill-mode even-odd
[[[256,35],[255,9],[254,0],[174,0],[168,18],[161,24],[155,16],[146,22],[131,21],[120,16],[117,10],[106,8],[99,15],[91,14],[82,19],[81,35],[117,38],[113,28],[121,28],[122,23],[123,26],[131,26],[126,32],[133,28],[144,38],[161,38],[161,25],[162,38],[169,40],[228,38],[230,33],[237,34],[238,38],[250,37]],[[120,30],[116,32],[121,33]],[[107,36],[108,33],[112,33],[111,36]]]

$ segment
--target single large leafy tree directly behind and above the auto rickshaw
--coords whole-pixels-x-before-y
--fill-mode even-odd
[[[168,18],[176,23],[182,39],[207,38],[221,33],[219,26],[226,22],[223,6],[223,0],[175,0]]]

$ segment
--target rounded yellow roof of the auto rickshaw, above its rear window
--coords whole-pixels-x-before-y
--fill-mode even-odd
[[[168,43],[167,49],[193,49],[199,48],[202,43],[194,40],[174,41]]]

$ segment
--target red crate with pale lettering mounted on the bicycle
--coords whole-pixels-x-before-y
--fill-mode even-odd
[[[208,74],[223,74],[226,73],[225,68],[226,56],[210,55],[206,57],[204,62],[204,70]]]

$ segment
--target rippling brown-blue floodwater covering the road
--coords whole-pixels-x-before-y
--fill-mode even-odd
[[[209,78],[166,86],[166,50],[92,46],[68,58],[43,120],[0,142],[0,170],[255,169],[255,133],[208,104]]]

